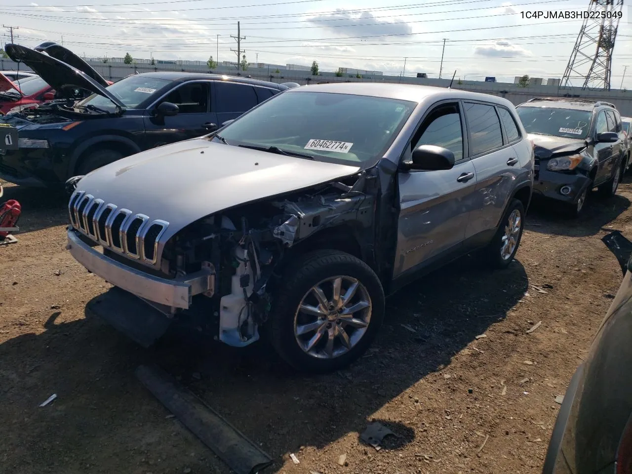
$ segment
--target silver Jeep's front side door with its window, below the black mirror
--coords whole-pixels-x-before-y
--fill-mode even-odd
[[[399,219],[393,277],[413,272],[463,248],[471,209],[476,205],[476,171],[465,151],[463,111],[444,103],[422,119],[403,161],[419,145],[438,145],[454,153],[454,167],[398,174]]]

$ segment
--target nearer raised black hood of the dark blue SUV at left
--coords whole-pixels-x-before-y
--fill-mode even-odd
[[[70,64],[18,44],[6,44],[4,51],[13,61],[22,61],[56,90],[61,90],[61,88],[66,86],[87,89],[95,94],[107,97],[121,109],[125,108],[125,104],[115,95],[108,92],[99,82]],[[56,48],[53,48],[53,51],[59,53]]]

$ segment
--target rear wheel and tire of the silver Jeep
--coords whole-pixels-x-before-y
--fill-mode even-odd
[[[507,206],[494,238],[487,246],[487,262],[492,268],[504,269],[514,259],[525,228],[525,207],[518,199]]]

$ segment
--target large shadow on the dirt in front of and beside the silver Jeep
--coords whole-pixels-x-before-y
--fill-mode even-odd
[[[374,418],[399,436],[387,437],[384,447],[398,449],[423,427],[405,418],[380,419],[375,412],[400,396],[413,403],[408,389],[449,366],[527,288],[519,262],[492,272],[480,269],[477,258],[463,258],[391,296],[384,327],[367,355],[348,370],[320,376],[289,370],[265,343],[233,349],[200,342],[176,326],[160,344],[142,349],[90,312],[86,319],[55,324],[59,310],[51,310],[46,331],[0,344],[0,399],[11,407],[0,410],[0,459],[9,470],[28,464],[32,472],[80,473],[92,466],[91,472],[140,473],[143,466],[158,467],[147,466],[147,459],[164,463],[181,456],[193,472],[228,472],[190,432],[167,420],[168,411],[135,379],[135,368],[146,363],[166,368],[261,444],[275,460],[265,473],[279,472],[288,453],[300,458],[301,446],[357,439],[355,433]],[[43,374],[50,380],[51,373],[58,374],[55,386],[42,386]],[[468,388],[458,389],[476,398],[478,387],[471,387],[473,395]],[[58,399],[38,408],[52,393]],[[373,452],[365,448],[367,454],[356,455]],[[197,457],[191,458],[187,453],[194,449]],[[339,454],[325,453],[319,456],[324,466],[305,468],[331,471]]]

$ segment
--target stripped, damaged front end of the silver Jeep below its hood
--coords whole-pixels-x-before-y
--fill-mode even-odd
[[[341,180],[344,182],[324,183],[222,210],[192,222],[169,238],[162,248],[158,245],[160,235],[153,235],[153,268],[145,262],[150,254],[143,253],[152,250],[147,243],[152,232],[149,222],[139,224],[145,231],[135,228],[133,223],[128,222],[126,228],[125,222],[119,222],[121,239],[99,239],[99,233],[106,227],[116,227],[116,219],[108,218],[101,225],[100,211],[92,212],[90,202],[82,207],[83,198],[75,198],[78,193],[73,193],[68,247],[88,270],[138,296],[167,319],[181,312],[202,317],[204,325],[212,328],[223,343],[246,346],[259,339],[259,328],[272,307],[274,289],[283,284],[283,269],[301,252],[319,245],[323,248],[332,236],[339,241],[360,241],[365,248],[373,248],[375,190],[379,180],[374,179],[371,171],[361,171]],[[79,179],[80,176],[69,180],[69,191],[75,191]],[[82,222],[85,225],[80,225]],[[77,231],[86,234],[80,236],[84,241],[88,236],[103,245],[100,257],[92,258],[109,260],[110,266],[125,267],[128,274],[133,272],[135,278],[142,277],[130,284],[129,275],[109,277],[113,272],[103,265],[91,266],[85,249],[80,248]],[[135,242],[127,235],[132,232],[140,236]],[[128,252],[112,250],[104,245],[107,243]],[[135,249],[142,258],[131,260],[130,249]],[[159,283],[164,288],[159,288]],[[121,329],[121,324],[118,326]]]

